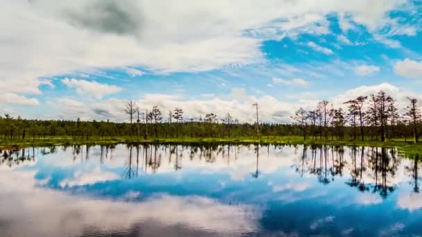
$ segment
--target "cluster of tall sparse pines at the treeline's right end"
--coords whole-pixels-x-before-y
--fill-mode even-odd
[[[358,96],[344,102],[346,111],[335,108],[322,100],[311,111],[300,108],[292,117],[301,127],[303,139],[319,137],[344,139],[346,135],[354,140],[360,137],[386,141],[391,138],[412,137],[416,143],[420,137],[421,111],[415,98],[408,98],[405,113],[399,114],[396,101],[385,91],[371,96]]]

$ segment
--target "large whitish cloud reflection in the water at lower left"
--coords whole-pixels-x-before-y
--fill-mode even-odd
[[[10,223],[7,232],[11,236],[81,236],[86,226],[110,232],[131,229],[140,222],[149,224],[144,230],[152,236],[173,233],[180,226],[186,227],[185,233],[205,229],[233,236],[239,230],[256,231],[262,213],[251,205],[223,204],[198,196],[157,195],[142,202],[128,202],[69,195],[40,188],[35,172],[2,171],[1,218]],[[41,213],[43,218],[39,218]],[[19,224],[22,222],[25,228]]]

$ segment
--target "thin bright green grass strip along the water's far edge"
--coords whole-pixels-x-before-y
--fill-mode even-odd
[[[334,145],[334,146],[371,146],[371,147],[388,147],[397,148],[400,152],[412,154],[422,154],[422,143],[412,143],[404,139],[391,139],[390,141],[365,141],[353,139],[312,139],[297,136],[287,137],[261,137],[260,139],[253,137],[235,137],[235,138],[150,138],[147,140],[137,139],[136,137],[91,137],[90,139],[72,139],[71,137],[46,137],[46,139],[15,139],[1,140],[0,149],[6,148],[22,148],[28,146],[58,146],[58,145],[111,145],[119,143],[185,143],[185,144],[206,144],[206,143],[261,143],[261,144],[278,144],[278,145]]]

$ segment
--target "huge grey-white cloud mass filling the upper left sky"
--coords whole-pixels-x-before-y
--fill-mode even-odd
[[[203,71],[260,62],[261,42],[268,37],[328,33],[326,15],[331,12],[343,16],[344,29],[355,22],[373,32],[391,24],[386,13],[405,3],[186,0],[164,8],[164,0],[0,1],[8,6],[0,14],[0,91],[17,94],[40,94],[45,83],[40,77],[75,70],[136,65],[164,72]],[[124,17],[116,17],[118,13]]]

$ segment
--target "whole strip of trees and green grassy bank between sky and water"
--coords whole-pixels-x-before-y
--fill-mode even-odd
[[[223,117],[183,118],[183,109],[163,114],[158,105],[142,110],[129,100],[121,113],[126,123],[103,121],[33,120],[0,116],[0,149],[27,146],[108,145],[117,143],[261,143],[394,147],[407,154],[422,154],[419,143],[422,114],[417,100],[408,98],[399,114],[395,100],[379,91],[344,102],[345,111],[321,100],[316,108],[300,108],[294,123],[262,123],[258,103],[251,105],[255,123]],[[253,106],[253,107],[252,107]],[[110,117],[110,112],[98,112]],[[165,118],[164,118],[165,117]]]

